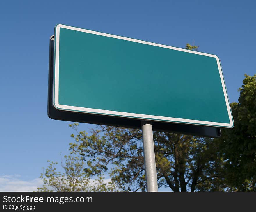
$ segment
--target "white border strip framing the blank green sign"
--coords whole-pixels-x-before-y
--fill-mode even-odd
[[[119,111],[111,111],[111,110],[93,109],[93,108],[86,108],[86,107],[76,107],[76,106],[69,106],[69,105],[60,105],[59,104],[59,94],[58,94],[58,91],[59,91],[59,43],[60,43],[59,35],[60,35],[60,28],[65,28],[65,29],[70,29],[70,30],[75,30],[75,31],[80,31],[80,32],[85,32],[85,33],[91,33],[91,34],[95,34],[95,35],[102,35],[102,36],[106,36],[106,37],[113,37],[113,38],[117,38],[117,39],[122,39],[122,40],[127,40],[127,41],[132,41],[132,42],[137,42],[137,43],[142,43],[142,44],[147,44],[147,45],[152,45],[152,46],[159,46],[162,48],[169,48],[169,49],[174,49],[174,50],[178,50],[178,51],[184,51],[184,52],[188,52],[188,53],[199,54],[199,55],[216,58],[230,123],[200,121],[200,120],[191,120],[191,119],[184,119],[184,118],[171,118],[171,117],[165,117],[165,116],[154,116],[154,115],[127,113],[127,112],[119,112]],[[224,78],[223,78],[223,74],[222,74],[222,70],[221,70],[220,60],[219,60],[218,56],[216,56],[216,55],[197,52],[197,51],[191,51],[191,50],[172,47],[172,46],[166,46],[166,45],[162,45],[162,44],[151,43],[151,42],[132,39],[132,38],[128,38],[128,37],[121,37],[118,35],[111,35],[111,34],[107,34],[107,33],[96,32],[96,31],[87,30],[87,29],[81,29],[81,28],[72,27],[72,26],[66,26],[63,24],[58,24],[56,26],[56,35],[55,35],[54,39],[55,39],[54,107],[56,107],[57,109],[68,110],[68,111],[72,110],[72,111],[79,111],[79,112],[97,113],[97,114],[104,114],[104,115],[111,115],[111,116],[125,116],[125,117],[129,117],[129,118],[141,118],[141,119],[149,119],[149,120],[169,121],[169,122],[178,122],[178,123],[190,123],[190,124],[210,125],[210,126],[219,126],[219,127],[233,127],[234,126],[231,108],[230,108],[227,91],[226,91],[226,87],[225,87],[225,82],[224,82]]]

